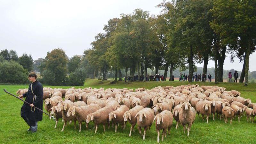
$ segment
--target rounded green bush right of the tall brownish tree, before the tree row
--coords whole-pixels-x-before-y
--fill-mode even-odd
[[[86,77],[86,70],[84,68],[78,68],[69,76],[70,86],[84,86]]]

